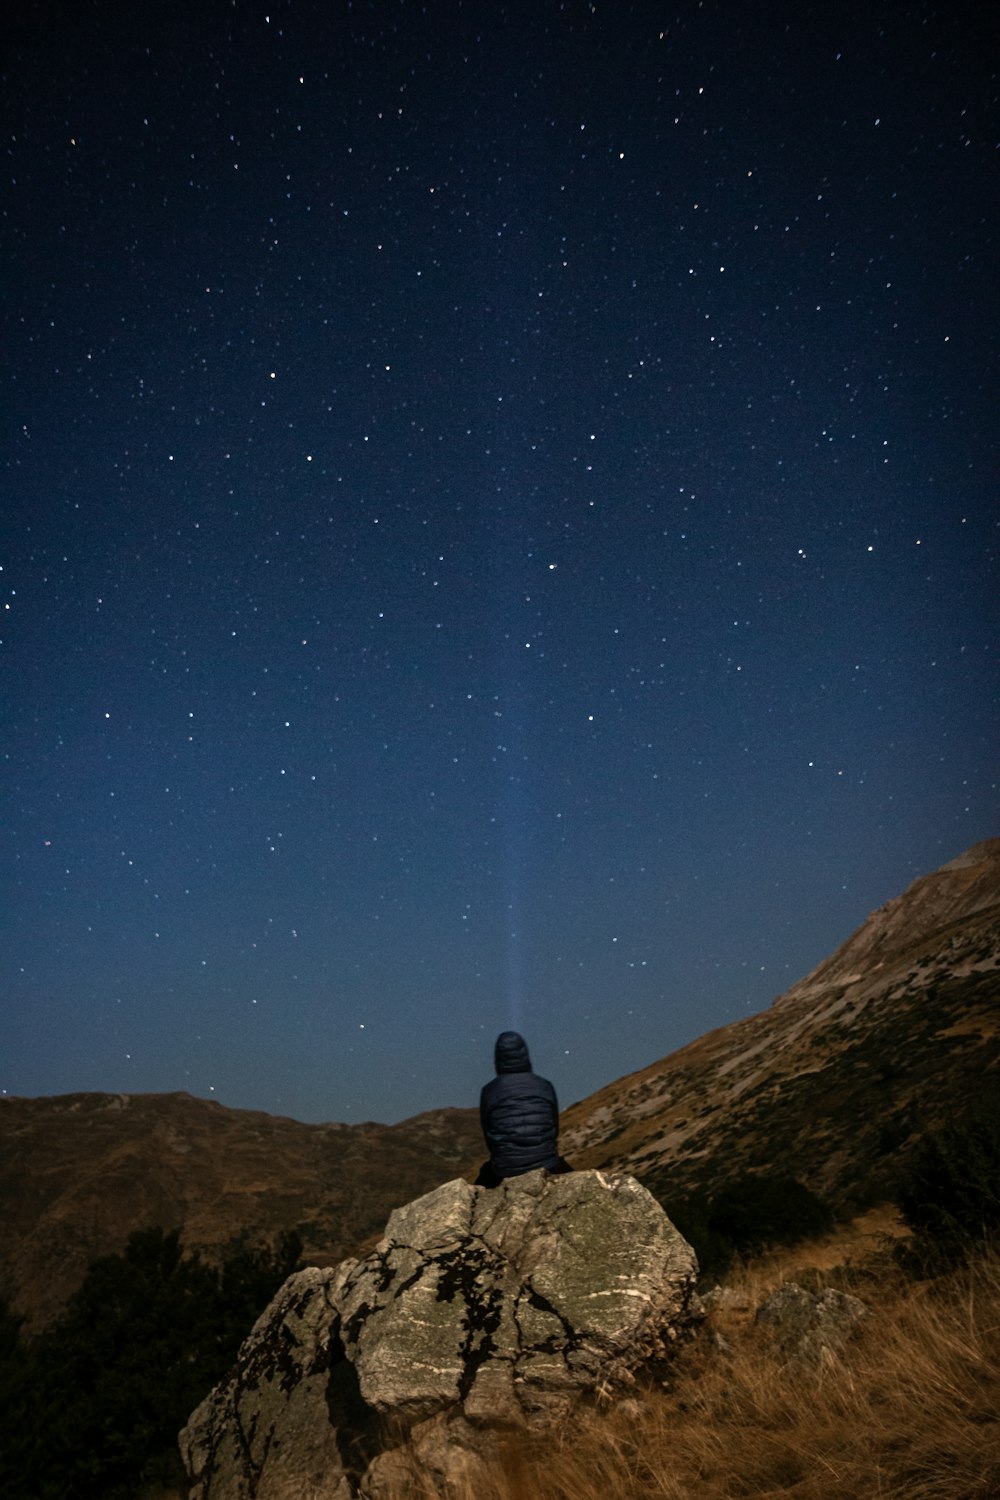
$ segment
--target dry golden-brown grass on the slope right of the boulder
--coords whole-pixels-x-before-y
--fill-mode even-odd
[[[759,1269],[742,1290],[756,1305]],[[519,1444],[477,1500],[1000,1497],[1000,1256],[858,1293],[864,1332],[825,1368],[784,1362],[748,1311],[715,1314],[726,1353],[705,1341],[673,1389]]]

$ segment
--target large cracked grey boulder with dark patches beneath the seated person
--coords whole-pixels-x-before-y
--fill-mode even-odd
[[[664,1364],[696,1274],[634,1178],[447,1182],[364,1260],[289,1278],[180,1436],[190,1500],[475,1486],[511,1431]]]

